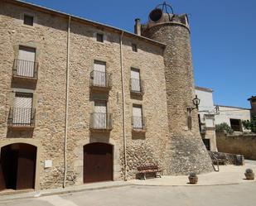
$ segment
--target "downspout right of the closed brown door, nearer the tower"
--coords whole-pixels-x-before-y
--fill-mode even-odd
[[[122,99],[123,99],[123,160],[124,160],[124,181],[127,180],[127,158],[126,158],[126,132],[125,132],[125,93],[123,85],[123,31],[120,36],[120,66],[121,66],[121,82],[122,82]]]

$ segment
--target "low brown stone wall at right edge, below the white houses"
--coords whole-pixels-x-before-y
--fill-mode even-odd
[[[245,159],[256,160],[256,134],[227,135],[216,133],[218,151],[243,155]]]

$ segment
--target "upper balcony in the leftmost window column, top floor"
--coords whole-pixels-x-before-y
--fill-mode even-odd
[[[12,77],[15,79],[37,79],[38,63],[28,60],[17,60],[13,62]]]

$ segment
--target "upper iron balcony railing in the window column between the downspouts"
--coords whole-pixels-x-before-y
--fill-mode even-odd
[[[112,77],[111,74],[102,71],[92,71],[90,73],[89,84],[91,87],[111,89]]]

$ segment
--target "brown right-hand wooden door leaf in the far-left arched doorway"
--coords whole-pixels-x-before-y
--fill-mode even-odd
[[[35,187],[36,147],[21,144],[17,159],[17,189]]]

